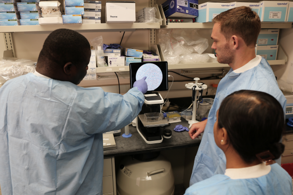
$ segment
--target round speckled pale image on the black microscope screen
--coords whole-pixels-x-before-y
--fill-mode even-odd
[[[146,77],[147,91],[157,89],[163,80],[161,69],[152,63],[144,64],[138,69],[136,80],[142,79],[143,77]]]

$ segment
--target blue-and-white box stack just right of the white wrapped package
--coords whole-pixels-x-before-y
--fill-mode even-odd
[[[64,12],[62,16],[64,24],[83,23],[84,0],[64,0]]]

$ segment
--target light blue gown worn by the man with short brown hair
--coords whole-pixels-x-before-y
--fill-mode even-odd
[[[255,90],[268,93],[276,98],[284,111],[286,98],[280,91],[271,66],[262,58],[260,63],[243,73],[229,73],[220,81],[213,105],[209,111],[208,122],[199,149],[195,156],[189,185],[207,179],[216,174],[224,174],[226,170],[226,156],[216,145],[213,135],[213,125],[216,113],[224,98],[235,91]]]

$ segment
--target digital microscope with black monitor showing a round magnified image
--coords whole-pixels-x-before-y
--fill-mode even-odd
[[[168,125],[164,118],[158,121],[148,122],[145,114],[159,113],[161,115],[161,105],[164,103],[162,96],[156,91],[167,91],[167,62],[140,62],[130,63],[130,84],[143,77],[146,77],[148,91],[145,94],[145,102],[136,120],[136,129],[139,135],[148,144],[161,143],[163,141],[163,127]]]

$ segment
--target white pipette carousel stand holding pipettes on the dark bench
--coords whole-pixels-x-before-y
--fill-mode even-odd
[[[188,83],[185,84],[185,87],[188,89],[192,89],[192,103],[193,103],[193,109],[192,109],[192,118],[191,120],[188,120],[188,124],[189,124],[189,128],[191,127],[192,124],[197,123],[199,121],[197,121],[195,119],[196,115],[197,115],[197,107],[198,107],[198,103],[200,102],[200,100],[202,100],[202,94],[204,89],[207,89],[208,86],[204,83],[198,83],[198,81],[200,80],[200,78],[194,78],[193,80],[195,80],[195,83]],[[199,100],[199,101],[197,101]]]

